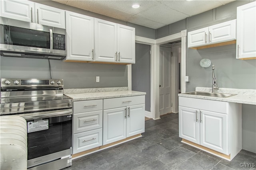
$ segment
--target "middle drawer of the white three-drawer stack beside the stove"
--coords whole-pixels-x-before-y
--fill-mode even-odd
[[[74,114],[74,133],[102,128],[102,110]]]

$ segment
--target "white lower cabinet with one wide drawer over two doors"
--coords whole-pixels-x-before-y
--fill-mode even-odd
[[[145,96],[104,99],[103,145],[145,131]]]

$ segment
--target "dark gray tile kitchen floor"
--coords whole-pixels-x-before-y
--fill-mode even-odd
[[[74,159],[64,170],[256,170],[253,152],[241,150],[230,162],[180,141],[178,114],[171,113],[145,121],[142,137]]]

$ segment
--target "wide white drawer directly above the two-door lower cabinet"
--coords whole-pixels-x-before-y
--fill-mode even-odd
[[[125,107],[125,106],[132,106],[137,104],[144,104],[145,103],[145,95],[141,96],[130,96],[130,97],[123,97],[123,98],[112,98],[112,99],[104,99],[103,105],[104,109],[113,109],[117,107]]]

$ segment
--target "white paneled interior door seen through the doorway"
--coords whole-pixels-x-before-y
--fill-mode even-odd
[[[171,57],[172,48],[160,47],[159,61],[159,111],[160,115],[170,113],[171,107]]]

